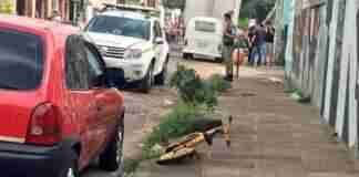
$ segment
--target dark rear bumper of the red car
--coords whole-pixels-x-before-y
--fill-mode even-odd
[[[39,147],[0,143],[1,177],[57,177],[71,164],[70,146]]]

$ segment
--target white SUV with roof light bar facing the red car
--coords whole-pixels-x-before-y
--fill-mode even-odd
[[[164,84],[170,46],[158,18],[110,9],[89,22],[85,34],[100,49],[106,66],[124,73],[125,82],[139,83],[145,93],[155,83]]]

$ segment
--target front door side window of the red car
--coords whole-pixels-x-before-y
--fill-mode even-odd
[[[89,77],[91,82],[91,87],[103,87],[106,86],[104,70],[100,63],[100,55],[94,51],[94,46],[86,44],[85,51],[89,61]]]

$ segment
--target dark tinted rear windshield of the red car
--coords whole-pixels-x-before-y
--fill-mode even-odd
[[[0,29],[0,90],[34,90],[43,71],[41,38]]]

